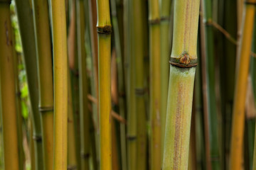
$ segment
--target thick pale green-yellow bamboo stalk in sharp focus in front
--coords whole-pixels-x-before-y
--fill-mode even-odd
[[[199,4],[199,0],[174,2],[174,45],[170,61],[163,170],[188,169]]]

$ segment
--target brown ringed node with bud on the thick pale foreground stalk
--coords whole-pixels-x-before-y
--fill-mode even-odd
[[[187,52],[183,52],[181,57],[171,57],[170,64],[176,67],[190,68],[197,66],[197,59],[191,59]]]

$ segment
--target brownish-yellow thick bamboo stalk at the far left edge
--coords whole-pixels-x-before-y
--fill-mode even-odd
[[[4,169],[18,169],[18,132],[11,1],[0,1],[0,93]]]

